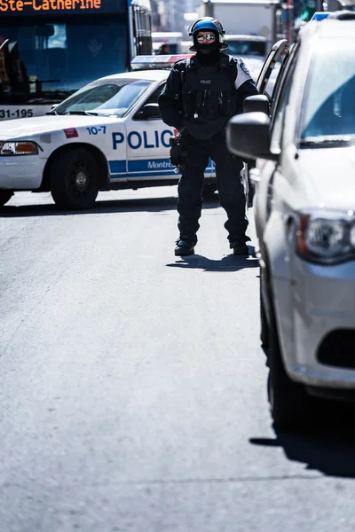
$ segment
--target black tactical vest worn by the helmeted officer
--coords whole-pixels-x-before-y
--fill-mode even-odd
[[[225,54],[215,66],[201,66],[195,57],[186,59],[181,104],[183,126],[192,137],[214,137],[236,113],[236,74],[233,58]]]

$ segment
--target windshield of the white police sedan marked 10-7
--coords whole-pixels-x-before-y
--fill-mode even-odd
[[[117,80],[85,87],[55,108],[55,114],[95,113],[122,117],[152,84],[146,80]]]

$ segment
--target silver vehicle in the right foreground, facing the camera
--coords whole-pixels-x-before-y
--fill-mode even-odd
[[[261,338],[279,426],[317,419],[319,398],[355,400],[355,13],[348,19],[303,27],[271,102],[247,98],[227,129],[233,153],[256,159]]]

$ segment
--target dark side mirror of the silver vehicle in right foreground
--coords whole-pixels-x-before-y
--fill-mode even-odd
[[[228,150],[245,159],[278,160],[270,151],[270,117],[265,113],[243,113],[228,121]]]

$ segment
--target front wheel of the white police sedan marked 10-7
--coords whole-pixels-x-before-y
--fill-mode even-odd
[[[65,209],[91,208],[99,193],[99,166],[85,148],[59,153],[50,170],[51,195]]]

